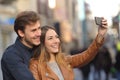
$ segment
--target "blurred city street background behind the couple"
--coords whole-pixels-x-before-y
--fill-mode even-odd
[[[74,69],[75,80],[120,80],[120,0],[0,0],[0,58],[15,41],[14,20],[24,10],[38,12],[41,25],[54,26],[62,37],[63,51],[71,55],[86,50],[95,38],[94,17],[106,18],[105,44],[93,61]]]

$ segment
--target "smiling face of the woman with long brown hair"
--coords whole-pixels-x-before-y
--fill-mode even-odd
[[[59,51],[60,39],[53,29],[49,29],[45,36],[45,47],[49,53],[57,53]]]

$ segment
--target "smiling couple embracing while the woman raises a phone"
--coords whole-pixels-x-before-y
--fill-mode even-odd
[[[89,63],[102,46],[107,32],[103,18],[98,34],[88,49],[77,55],[65,56],[55,29],[40,25],[36,12],[18,14],[14,30],[18,37],[1,59],[3,80],[74,80],[73,68]]]

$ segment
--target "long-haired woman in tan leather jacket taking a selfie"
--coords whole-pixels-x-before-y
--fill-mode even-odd
[[[41,29],[41,45],[30,61],[30,70],[36,80],[74,80],[73,68],[84,66],[97,54],[107,32],[107,21],[102,19],[96,39],[90,47],[76,55],[65,56],[61,52],[61,41],[55,29]]]

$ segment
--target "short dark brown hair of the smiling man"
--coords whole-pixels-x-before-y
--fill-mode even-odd
[[[23,11],[19,13],[15,19],[14,30],[17,34],[18,34],[18,30],[24,32],[26,25],[30,25],[31,23],[35,23],[37,21],[40,21],[40,16],[39,14],[37,14],[37,12]]]

